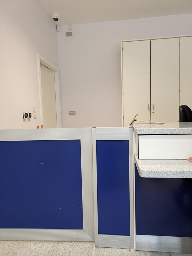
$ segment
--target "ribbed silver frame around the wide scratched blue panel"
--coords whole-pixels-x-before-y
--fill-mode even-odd
[[[92,129],[56,128],[0,130],[0,141],[80,140],[83,229],[1,228],[0,240],[94,241]]]

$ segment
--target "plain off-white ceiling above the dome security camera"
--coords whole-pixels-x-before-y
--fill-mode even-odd
[[[39,0],[55,22],[72,25],[192,13],[192,0]]]

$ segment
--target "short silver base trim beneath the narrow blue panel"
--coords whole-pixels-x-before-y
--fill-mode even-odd
[[[130,249],[130,236],[98,235],[98,247]]]

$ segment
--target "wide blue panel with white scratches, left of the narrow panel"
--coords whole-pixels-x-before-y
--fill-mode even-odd
[[[83,229],[80,140],[0,142],[0,228]]]

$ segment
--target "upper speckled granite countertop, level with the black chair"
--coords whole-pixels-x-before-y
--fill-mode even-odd
[[[166,124],[134,122],[131,126],[133,132],[139,135],[192,134],[192,122]]]

